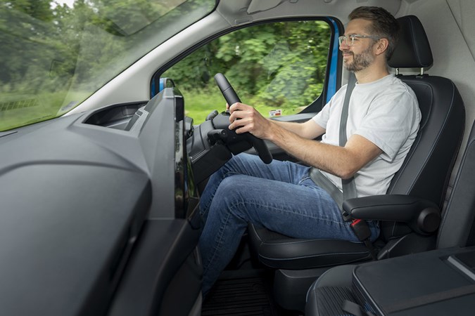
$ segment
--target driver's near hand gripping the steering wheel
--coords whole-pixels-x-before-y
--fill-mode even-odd
[[[269,138],[272,123],[251,105],[234,103],[229,107],[229,112],[231,113],[229,129],[235,129],[238,134],[249,132],[257,138]]]

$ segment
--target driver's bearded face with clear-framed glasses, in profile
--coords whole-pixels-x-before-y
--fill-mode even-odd
[[[371,22],[368,20],[355,19],[348,22],[345,35],[372,35],[368,34],[368,29]],[[350,40],[348,39],[350,43]],[[369,38],[356,37],[353,41],[353,46],[348,46],[346,41],[340,45],[340,51],[343,52],[343,66],[350,72],[358,72],[369,67],[374,62],[373,52],[374,40]]]

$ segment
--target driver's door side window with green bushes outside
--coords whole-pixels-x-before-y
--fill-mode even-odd
[[[217,72],[264,116],[296,114],[322,94],[330,39],[331,27],[321,20],[246,27],[199,48],[161,77],[175,82],[195,124],[224,110]]]

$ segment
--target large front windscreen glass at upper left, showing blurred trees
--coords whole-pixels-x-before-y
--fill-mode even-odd
[[[0,131],[68,112],[215,5],[0,0]]]

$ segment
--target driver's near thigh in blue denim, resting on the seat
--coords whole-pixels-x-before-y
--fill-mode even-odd
[[[236,217],[290,237],[356,241],[334,200],[310,179],[293,184],[236,175],[223,180],[218,190],[217,196],[222,197],[216,201],[218,212],[227,209]]]

